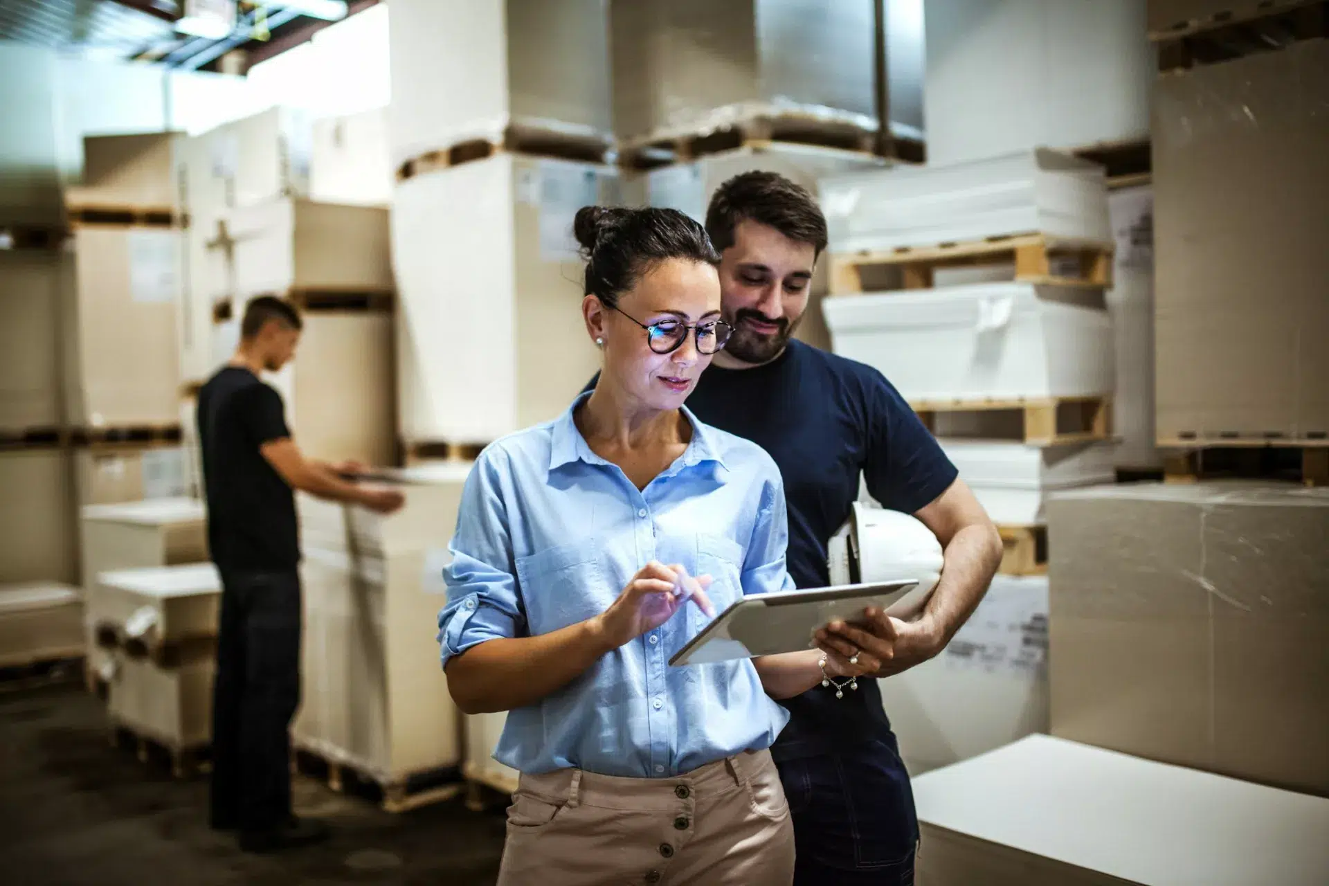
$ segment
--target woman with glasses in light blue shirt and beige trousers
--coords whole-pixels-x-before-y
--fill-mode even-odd
[[[671,668],[743,594],[792,590],[784,489],[683,401],[724,347],[719,256],[674,210],[585,207],[582,316],[603,355],[560,418],[481,453],[439,639],[468,713],[508,711],[500,883],[788,883],[773,697],[878,667],[833,651]]]

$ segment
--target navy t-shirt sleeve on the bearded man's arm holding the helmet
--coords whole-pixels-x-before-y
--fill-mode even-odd
[[[932,432],[885,376],[868,379],[868,491],[884,507],[913,514],[937,499],[958,476]]]

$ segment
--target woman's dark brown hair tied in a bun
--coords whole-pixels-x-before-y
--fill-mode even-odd
[[[672,209],[583,206],[573,232],[586,258],[585,294],[606,307],[614,307],[619,295],[666,259],[720,263],[706,228]]]

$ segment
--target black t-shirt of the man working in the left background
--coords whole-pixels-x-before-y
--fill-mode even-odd
[[[249,369],[222,367],[198,392],[207,543],[226,571],[282,571],[300,561],[295,494],[259,446],[290,437],[282,395]]]

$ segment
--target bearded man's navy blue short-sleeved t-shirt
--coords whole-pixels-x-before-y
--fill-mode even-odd
[[[956,480],[932,433],[872,367],[791,340],[784,353],[751,369],[710,367],[687,408],[708,425],[746,437],[780,468],[789,514],[787,563],[795,584],[829,583],[827,543],[868,491],[912,514]],[[776,758],[821,754],[882,740],[890,724],[876,680],[859,691],[813,687],[781,701],[789,724]]]

